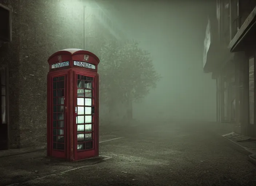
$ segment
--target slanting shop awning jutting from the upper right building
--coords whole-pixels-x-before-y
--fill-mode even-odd
[[[235,37],[230,41],[228,48],[231,52],[244,51],[246,45],[255,41],[256,33],[256,7],[244,21]]]

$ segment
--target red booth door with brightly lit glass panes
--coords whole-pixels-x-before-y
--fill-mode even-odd
[[[76,159],[95,156],[95,81],[94,77],[76,75]],[[97,129],[96,129],[97,130]]]

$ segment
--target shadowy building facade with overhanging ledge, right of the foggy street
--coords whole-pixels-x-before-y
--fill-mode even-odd
[[[216,80],[217,116],[222,126],[256,136],[255,1],[216,0],[204,43],[204,72]]]

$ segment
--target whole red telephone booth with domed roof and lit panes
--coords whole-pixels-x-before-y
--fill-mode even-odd
[[[99,155],[99,58],[86,50],[52,54],[47,77],[47,155],[77,161]]]

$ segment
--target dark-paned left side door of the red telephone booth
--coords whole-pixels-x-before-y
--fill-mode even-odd
[[[66,76],[52,77],[52,126],[51,145],[52,156],[65,158],[66,146]]]

